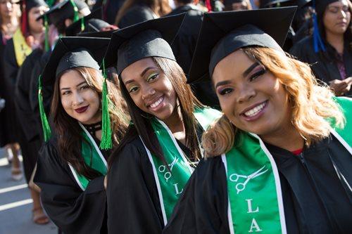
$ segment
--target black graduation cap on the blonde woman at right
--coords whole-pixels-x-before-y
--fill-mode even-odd
[[[282,51],[295,11],[296,6],[205,13],[187,83],[210,79],[215,65],[239,48],[262,46]]]

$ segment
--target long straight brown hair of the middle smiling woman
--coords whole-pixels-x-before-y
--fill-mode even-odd
[[[191,88],[186,84],[186,77],[180,65],[174,60],[168,58],[153,57],[153,61],[163,71],[165,77],[170,79],[172,87],[175,89],[177,99],[180,103],[180,110],[182,114],[182,120],[184,122],[184,129],[186,131],[186,144],[191,150],[192,155],[195,158],[201,158],[201,152],[199,148],[198,138],[196,136],[196,119],[194,117],[194,108],[203,107],[199,100],[193,95]],[[121,76],[120,76],[121,79]],[[130,116],[134,124],[134,128],[137,130],[142,141],[146,145],[153,155],[156,155],[164,163],[163,152],[158,142],[158,138],[154,134],[153,128],[149,121],[151,115],[142,111],[134,104],[134,101],[130,97],[130,93],[127,91],[125,85],[120,80],[120,87],[122,96],[125,98],[128,109],[130,110]],[[127,138],[132,137],[126,136]],[[126,140],[127,142],[128,140]],[[116,155],[122,150],[124,143],[121,143],[119,147],[113,153]],[[112,159],[114,160],[114,159]],[[110,162],[112,164],[113,161]]]

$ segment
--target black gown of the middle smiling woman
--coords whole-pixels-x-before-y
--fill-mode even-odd
[[[133,131],[133,132],[132,132]],[[163,214],[153,168],[144,145],[134,134],[124,145],[108,171],[108,233],[161,233]],[[197,127],[199,138],[203,130]],[[189,150],[177,141],[189,156]]]

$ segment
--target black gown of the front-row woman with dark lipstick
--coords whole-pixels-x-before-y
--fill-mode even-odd
[[[82,191],[68,163],[58,155],[56,138],[51,138],[39,152],[34,183],[42,190],[40,197],[46,213],[65,234],[107,233],[103,179],[104,176],[92,179]]]

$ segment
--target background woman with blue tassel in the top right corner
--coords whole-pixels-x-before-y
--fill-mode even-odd
[[[318,23],[313,36],[298,42],[290,53],[311,64],[315,76],[329,84],[337,96],[351,96],[351,1],[316,1],[315,11]]]

